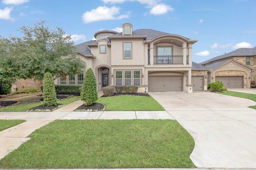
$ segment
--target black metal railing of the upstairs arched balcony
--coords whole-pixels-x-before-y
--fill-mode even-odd
[[[188,56],[187,56],[188,63]],[[183,64],[183,55],[154,56],[154,64]]]

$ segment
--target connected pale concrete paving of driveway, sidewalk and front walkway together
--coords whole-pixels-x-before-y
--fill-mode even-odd
[[[190,158],[200,170],[256,169],[256,111],[247,107],[256,102],[210,92],[149,94],[166,111],[76,112],[72,110],[82,104],[76,101],[52,112],[0,112],[0,119],[26,120],[0,132],[0,158],[27,141],[32,131],[56,119],[175,119],[194,138]]]

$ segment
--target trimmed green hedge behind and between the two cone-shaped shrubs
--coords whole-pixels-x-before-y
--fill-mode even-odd
[[[55,84],[56,93],[79,93],[81,92],[82,84]],[[41,86],[43,92],[43,87]]]

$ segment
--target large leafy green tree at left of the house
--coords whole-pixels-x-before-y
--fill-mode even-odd
[[[23,37],[0,37],[0,81],[18,78],[43,80],[49,72],[55,80],[63,74],[78,74],[84,64],[76,55],[71,35],[62,28],[51,29],[46,22],[22,26]],[[7,76],[6,76],[7,75]]]

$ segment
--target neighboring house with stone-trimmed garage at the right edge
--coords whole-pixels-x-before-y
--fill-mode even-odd
[[[250,81],[256,79],[256,47],[240,48],[200,64],[211,69],[208,83],[219,80],[226,88],[250,88]]]

